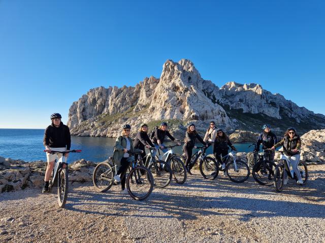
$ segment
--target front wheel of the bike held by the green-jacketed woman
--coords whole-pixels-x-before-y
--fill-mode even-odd
[[[138,177],[138,178],[137,178]],[[133,178],[135,180],[133,180]],[[126,178],[128,194],[135,200],[144,200],[152,192],[154,179],[150,170],[144,166],[132,169]]]

